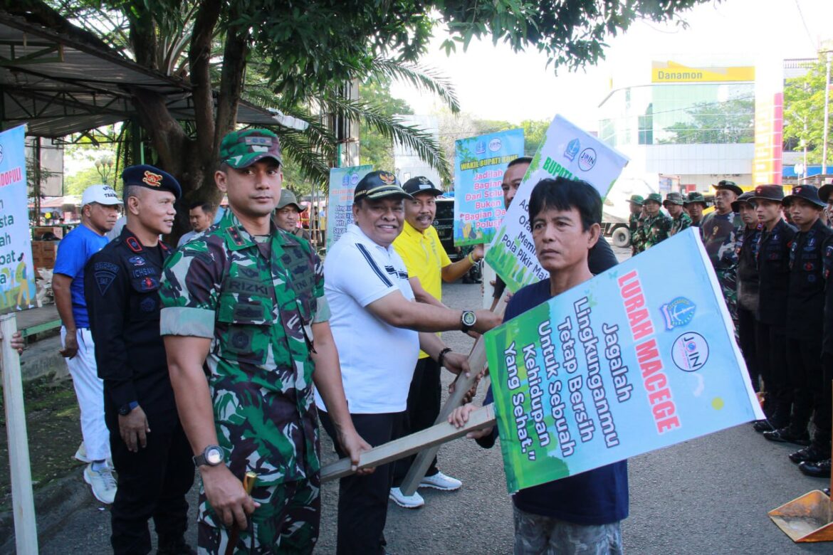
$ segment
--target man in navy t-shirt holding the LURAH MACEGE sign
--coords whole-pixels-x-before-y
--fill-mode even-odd
[[[601,235],[601,197],[585,181],[563,177],[539,181],[530,197],[529,216],[536,255],[550,279],[517,291],[506,306],[505,321],[615,264],[588,265],[588,252]],[[491,389],[485,403],[491,403]],[[474,409],[467,404],[448,420],[459,428]],[[496,433],[489,428],[467,437],[491,447]],[[621,553],[620,521],[628,513],[627,462],[521,489],[512,502],[516,555]]]

